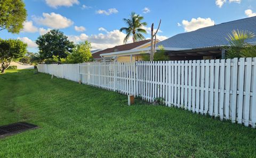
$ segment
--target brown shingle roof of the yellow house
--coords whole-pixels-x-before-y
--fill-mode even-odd
[[[116,51],[131,50],[133,48],[144,45],[148,42],[150,42],[150,39],[139,41],[139,42],[134,42],[134,43],[128,43],[128,44],[116,46],[116,47],[113,47],[113,48],[107,48],[107,49],[95,52],[94,54],[92,54],[92,57],[93,57],[93,59],[98,59],[98,58],[101,58],[100,54],[105,54],[105,53],[109,53],[109,52],[116,52]]]

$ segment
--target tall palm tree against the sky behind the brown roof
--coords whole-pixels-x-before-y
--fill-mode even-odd
[[[141,22],[143,19],[144,19],[143,16],[135,14],[134,12],[131,13],[130,19],[125,19],[125,18],[123,19],[127,25],[127,28],[120,29],[120,32],[125,31],[126,33],[126,37],[124,38],[124,43],[127,42],[127,40],[131,37],[131,35],[132,35],[133,42],[145,39],[142,33],[147,33],[147,31],[145,29],[142,29],[142,27],[145,27],[147,23]]]

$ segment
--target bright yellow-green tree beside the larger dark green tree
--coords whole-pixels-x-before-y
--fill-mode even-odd
[[[68,55],[66,63],[77,64],[89,62],[92,60],[91,43],[88,41],[81,42],[73,48],[73,52]]]

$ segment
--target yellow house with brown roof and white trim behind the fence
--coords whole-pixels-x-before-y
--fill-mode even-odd
[[[92,54],[93,59],[100,61],[130,62],[142,60],[142,54],[149,54],[151,40],[143,40],[101,50]],[[157,39],[157,42],[159,40]]]

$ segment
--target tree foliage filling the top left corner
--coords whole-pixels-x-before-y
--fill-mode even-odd
[[[0,31],[6,29],[11,33],[19,33],[26,18],[27,11],[22,0],[0,1]]]

